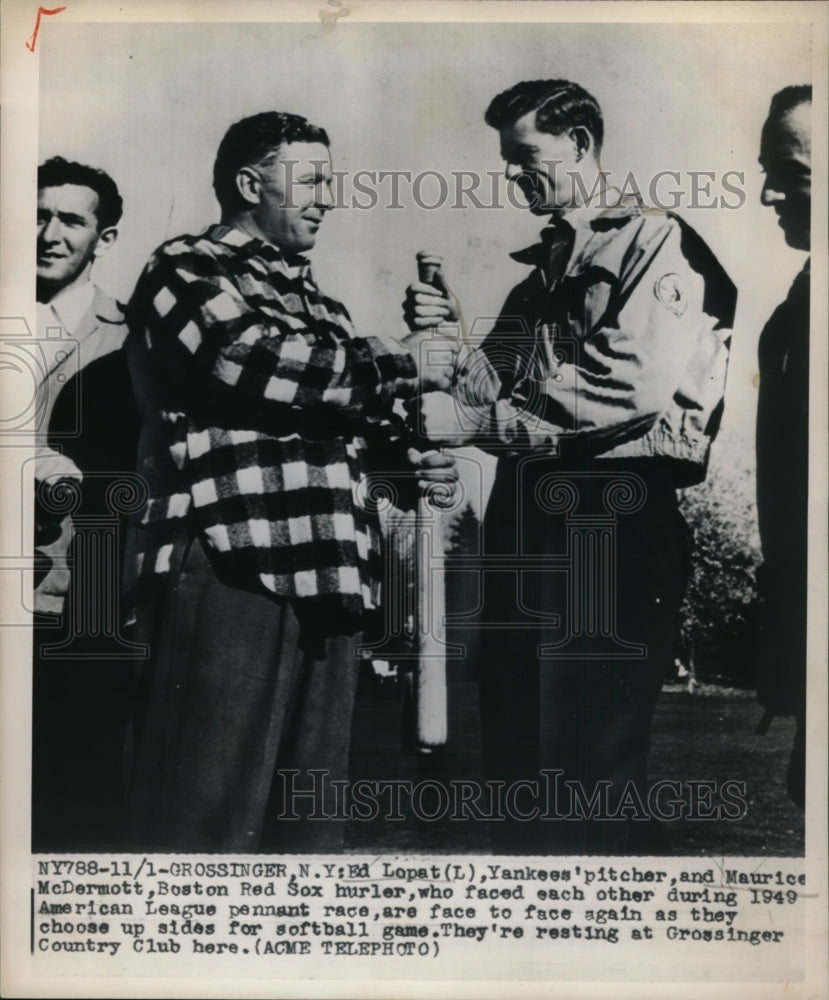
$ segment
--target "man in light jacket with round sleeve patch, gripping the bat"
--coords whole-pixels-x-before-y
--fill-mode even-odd
[[[607,188],[582,87],[519,83],[486,121],[549,224],[512,255],[531,271],[459,355],[452,396],[421,415],[498,456],[481,571],[492,844],[649,853],[652,820],[688,808],[649,797],[646,765],[687,572],[676,490],[705,476],[736,293],[689,227]],[[413,285],[405,316],[419,332],[458,309]]]

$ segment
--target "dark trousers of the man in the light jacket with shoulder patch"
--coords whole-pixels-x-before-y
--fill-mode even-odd
[[[646,799],[651,720],[676,643],[687,528],[670,481],[647,470],[637,471],[638,509],[610,517],[606,484],[592,471],[573,474],[577,504],[544,509],[538,499],[552,488],[544,478],[550,468],[499,469],[486,515],[488,553],[516,557],[509,572],[487,570],[484,580],[485,769],[507,786],[535,783],[538,800],[517,801],[524,814],[532,804],[542,814],[533,820],[506,809],[490,825],[493,849],[649,853],[655,824],[591,818],[589,809],[574,810],[569,785],[589,801],[608,783],[605,815],[629,783]],[[516,498],[517,517],[509,516]],[[560,561],[533,564],[544,555]],[[547,794],[553,779],[544,771],[558,772],[557,795]]]

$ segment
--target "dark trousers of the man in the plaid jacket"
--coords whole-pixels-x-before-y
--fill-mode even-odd
[[[348,778],[359,637],[304,651],[291,605],[222,583],[198,540],[177,547],[138,632],[151,654],[128,798],[131,846],[341,849],[331,782]],[[311,789],[318,794],[301,794]]]

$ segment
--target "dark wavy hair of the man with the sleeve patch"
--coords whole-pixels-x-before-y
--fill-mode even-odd
[[[502,129],[535,111],[539,132],[561,135],[581,125],[593,136],[596,151],[602,148],[604,121],[599,102],[592,94],[569,80],[524,80],[493,99],[486,109],[487,125]]]

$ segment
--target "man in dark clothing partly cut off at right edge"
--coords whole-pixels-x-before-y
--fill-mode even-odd
[[[786,87],[763,126],[762,201],[774,208],[786,243],[808,253],[812,207],[812,88]],[[793,715],[787,773],[801,807],[806,778],[806,551],[809,491],[809,258],[760,336],[757,403],[757,515],[764,603],[757,696],[766,715]],[[765,725],[765,723],[764,723]]]

